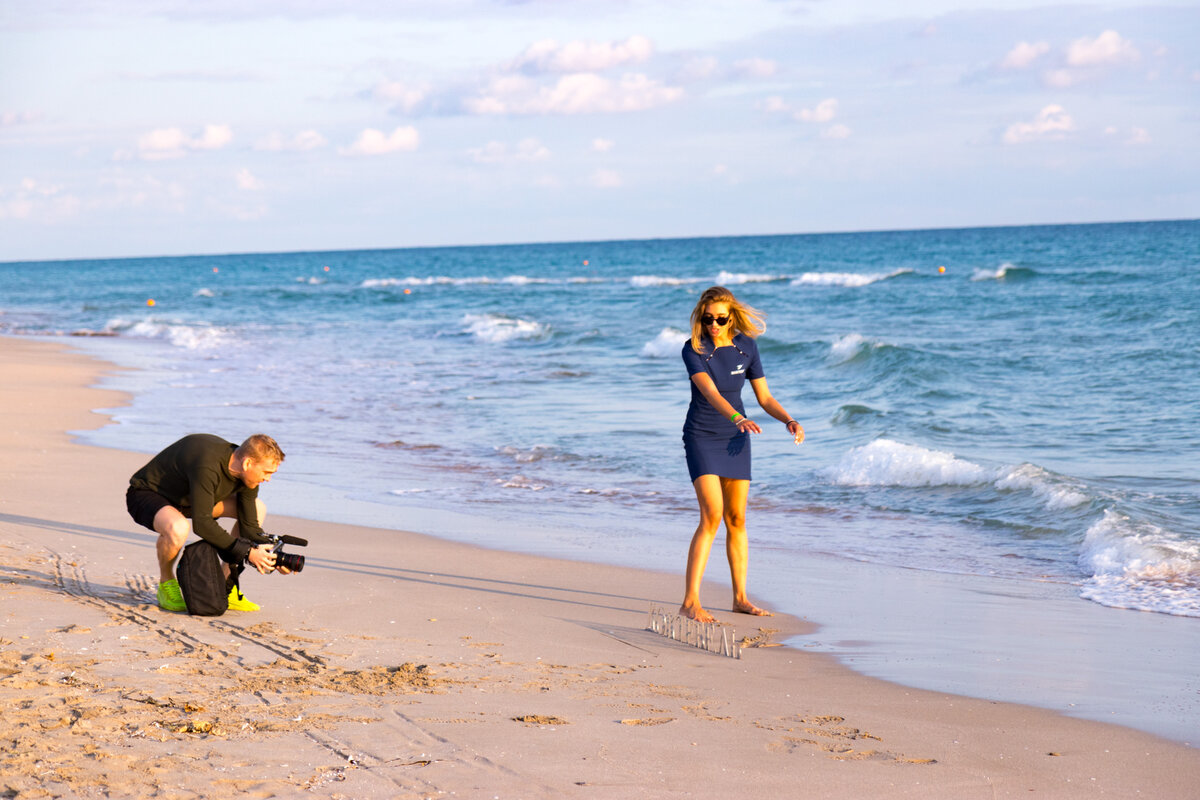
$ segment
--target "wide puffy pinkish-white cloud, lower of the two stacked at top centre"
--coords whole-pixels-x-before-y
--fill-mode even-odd
[[[664,86],[643,74],[612,80],[590,72],[563,76],[553,86],[518,76],[493,80],[488,90],[464,101],[472,114],[610,114],[642,112],[683,97],[683,89]]]

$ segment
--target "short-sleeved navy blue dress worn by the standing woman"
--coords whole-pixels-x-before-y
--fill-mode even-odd
[[[691,339],[683,343],[683,362],[691,383],[691,405],[688,407],[688,419],[683,423],[688,474],[692,481],[701,475],[749,481],[750,434],[739,433],[738,426],[713,408],[690,379],[696,373],[708,373],[721,397],[744,415],[742,387],[746,380],[763,377],[758,345],[744,333],[736,333],[732,345],[715,350],[710,338],[706,336],[702,341],[703,355],[691,349]]]

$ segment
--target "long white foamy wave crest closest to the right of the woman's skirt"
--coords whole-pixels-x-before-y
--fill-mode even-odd
[[[890,439],[854,447],[830,473],[839,486],[974,486],[994,476],[995,470],[955,458],[954,453]]]

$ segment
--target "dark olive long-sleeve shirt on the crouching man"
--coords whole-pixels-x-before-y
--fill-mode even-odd
[[[229,471],[238,445],[208,433],[192,433],[151,458],[130,479],[130,487],[161,494],[192,517],[192,530],[218,549],[236,539],[212,518],[216,504],[238,495],[238,530],[252,542],[266,541],[258,522],[258,487],[250,488]],[[248,549],[248,548],[244,548]]]

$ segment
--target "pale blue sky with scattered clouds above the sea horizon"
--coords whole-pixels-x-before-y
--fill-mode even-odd
[[[1195,2],[0,0],[0,260],[1200,217]]]

